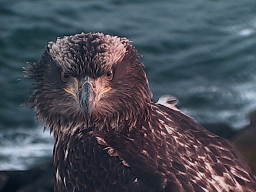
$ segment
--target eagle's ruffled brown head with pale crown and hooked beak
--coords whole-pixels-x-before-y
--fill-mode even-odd
[[[49,42],[39,62],[23,68],[35,81],[33,104],[46,127],[126,121],[148,116],[152,92],[130,40],[81,33]]]

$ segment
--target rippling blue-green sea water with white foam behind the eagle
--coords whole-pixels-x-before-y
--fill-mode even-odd
[[[20,107],[32,93],[22,66],[38,61],[48,41],[82,31],[132,40],[154,98],[173,94],[199,123],[239,129],[256,109],[255,0],[2,0],[0,170],[51,156],[48,130]]]

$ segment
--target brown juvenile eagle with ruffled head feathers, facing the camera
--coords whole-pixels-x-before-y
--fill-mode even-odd
[[[127,38],[81,33],[49,42],[25,77],[37,118],[54,133],[55,191],[256,191],[233,144],[152,100]]]

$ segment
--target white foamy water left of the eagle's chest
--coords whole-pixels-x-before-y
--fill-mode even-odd
[[[54,139],[43,127],[1,131],[0,170],[27,170],[52,156]]]

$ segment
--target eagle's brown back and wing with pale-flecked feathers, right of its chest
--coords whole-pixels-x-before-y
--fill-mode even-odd
[[[238,150],[182,112],[152,104],[151,119],[118,134],[94,132],[134,174],[157,191],[254,191],[255,176]]]

